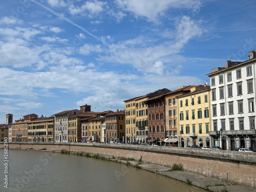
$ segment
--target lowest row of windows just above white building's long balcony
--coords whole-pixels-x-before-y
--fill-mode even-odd
[[[221,119],[220,121],[221,121],[221,129],[227,130],[226,119]],[[255,130],[255,125],[254,125],[255,117],[249,117],[248,121],[250,125],[250,130]],[[218,120],[213,120],[213,124],[214,124],[214,131],[218,131]],[[238,126],[239,126],[239,130],[244,130],[244,117],[238,118]],[[234,118],[229,119],[229,130],[230,131],[234,130]]]

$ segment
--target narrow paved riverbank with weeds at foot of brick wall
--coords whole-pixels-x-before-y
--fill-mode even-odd
[[[49,153],[62,153],[70,154],[70,155],[78,155],[78,156],[84,156],[84,157],[91,157],[96,159],[102,159],[102,160],[108,160],[113,161],[117,163],[125,164],[126,166],[134,166],[136,168],[141,168],[147,171],[150,171],[152,173],[156,173],[159,175],[162,175],[164,177],[176,179],[178,181],[185,182],[190,185],[194,185],[200,188],[207,189],[209,191],[241,191],[241,192],[249,192],[249,191],[256,191],[250,188],[246,188],[237,184],[232,184],[228,182],[219,181],[217,179],[207,178],[204,176],[200,176],[193,173],[188,173],[184,171],[171,171],[170,167],[161,166],[157,164],[152,163],[145,163],[142,160],[136,161],[133,158],[116,158],[114,156],[100,156],[98,154],[90,154],[90,153],[84,153],[84,152],[70,152],[67,150],[61,150],[61,151],[52,151],[52,150],[44,150],[42,148],[41,150],[36,149],[24,149],[24,148],[9,148],[9,150],[25,150],[25,151],[38,151],[38,152],[49,152]]]

